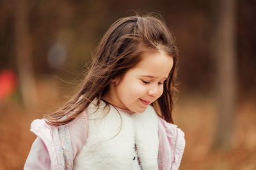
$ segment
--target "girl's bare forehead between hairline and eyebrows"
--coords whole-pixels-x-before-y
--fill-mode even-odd
[[[147,74],[155,77],[168,77],[173,67],[173,57],[162,50],[147,51],[141,56],[141,61],[137,66],[132,68],[132,71],[137,74]]]

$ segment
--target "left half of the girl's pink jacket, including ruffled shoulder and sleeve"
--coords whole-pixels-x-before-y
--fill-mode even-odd
[[[85,112],[70,122],[70,124],[62,126],[67,130],[65,135],[69,136],[70,141],[68,143],[71,143],[70,164],[72,164],[79,150],[86,143],[88,128],[84,114]],[[44,119],[36,119],[32,122],[30,131],[37,138],[31,146],[24,169],[65,169],[66,158],[65,153],[61,150],[61,147],[63,147],[61,145],[61,142],[63,143],[61,137],[63,136],[61,135],[63,133],[60,133],[60,127],[48,125]]]

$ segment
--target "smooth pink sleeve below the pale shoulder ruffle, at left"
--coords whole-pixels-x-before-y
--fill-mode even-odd
[[[24,170],[29,169],[51,169],[51,160],[47,148],[39,137],[37,137],[31,146]]]

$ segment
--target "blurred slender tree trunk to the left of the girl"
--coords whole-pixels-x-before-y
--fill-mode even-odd
[[[29,2],[28,0],[13,1],[15,55],[19,71],[19,83],[22,101],[26,107],[36,104],[36,87],[31,61],[31,39],[29,36]]]

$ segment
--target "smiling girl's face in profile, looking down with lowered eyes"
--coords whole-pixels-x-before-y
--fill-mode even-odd
[[[104,98],[117,108],[142,113],[163,94],[163,82],[173,67],[173,57],[164,51],[143,53],[137,66],[115,78]]]

